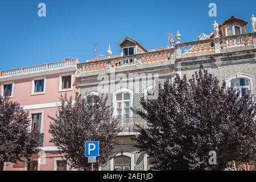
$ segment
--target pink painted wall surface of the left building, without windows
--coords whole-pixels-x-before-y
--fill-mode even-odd
[[[36,77],[30,77],[30,78],[22,78],[19,80],[15,80],[15,76],[13,77],[14,80],[14,92],[13,92],[13,98],[10,98],[11,101],[19,102],[22,106],[28,106],[28,105],[38,105],[38,104],[48,104],[48,103],[55,103],[59,102],[59,97],[61,94],[67,93],[68,98],[72,96],[75,98],[76,93],[76,72],[73,71],[73,83],[72,83],[72,91],[67,92],[59,92],[59,75],[63,73],[71,73],[69,72],[62,72],[62,73],[54,73],[52,75],[46,75],[46,92],[45,94],[40,95],[31,95],[31,87],[32,87],[32,78]],[[39,76],[43,77],[43,76]],[[4,81],[5,82],[5,81]],[[7,81],[9,82],[9,81]],[[2,82],[0,82],[0,85]],[[1,88],[0,88],[1,89]],[[1,90],[0,90],[1,91]],[[29,109],[27,110],[28,113],[43,113],[42,118],[42,133],[44,133],[44,147],[50,147],[54,146],[52,143],[49,143],[49,139],[52,137],[51,134],[48,133],[49,130],[49,124],[51,122],[51,119],[48,118],[48,115],[55,117],[56,116],[56,110],[57,107],[40,107],[36,109]],[[32,123],[32,121],[31,121]],[[46,164],[40,165],[40,171],[52,171],[54,166],[54,158],[60,158],[59,152],[46,152],[45,159]],[[34,155],[32,158],[38,158],[37,155]],[[8,166],[5,167],[6,171],[24,171],[26,168],[26,163],[18,163],[18,164],[12,164],[8,163]]]

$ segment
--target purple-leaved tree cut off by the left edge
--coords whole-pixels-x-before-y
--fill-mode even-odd
[[[0,97],[0,166],[26,162],[39,146],[40,134],[30,129],[28,113],[8,96]]]

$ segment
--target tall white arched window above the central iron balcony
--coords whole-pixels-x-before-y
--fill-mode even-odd
[[[131,118],[133,112],[133,91],[129,89],[119,89],[113,93],[114,117]]]

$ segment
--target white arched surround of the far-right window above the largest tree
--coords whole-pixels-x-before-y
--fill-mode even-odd
[[[247,80],[249,80],[249,85],[250,85],[250,92],[252,95],[254,95],[254,90],[255,90],[255,84],[254,84],[254,76],[250,76],[246,73],[237,73],[236,75],[232,75],[229,78],[227,78],[226,81],[226,85],[228,87],[230,87],[232,85],[232,80],[236,79],[236,78],[245,78]]]

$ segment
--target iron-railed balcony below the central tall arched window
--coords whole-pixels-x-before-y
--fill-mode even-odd
[[[121,127],[120,133],[137,133],[137,125],[146,127],[147,123],[142,118],[121,118],[119,126]]]

